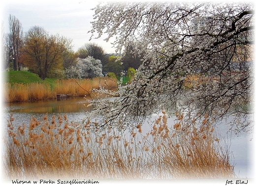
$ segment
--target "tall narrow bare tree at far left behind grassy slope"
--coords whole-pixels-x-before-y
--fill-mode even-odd
[[[23,42],[23,28],[20,21],[11,14],[9,16],[9,30],[10,59],[13,62],[13,69],[20,70],[20,50]]]

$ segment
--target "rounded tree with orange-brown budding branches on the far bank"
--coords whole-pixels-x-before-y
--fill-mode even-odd
[[[71,40],[49,35],[44,28],[34,26],[26,33],[22,61],[44,80],[61,72],[64,54],[70,48]]]

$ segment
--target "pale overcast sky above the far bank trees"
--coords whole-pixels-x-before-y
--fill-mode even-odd
[[[50,34],[59,33],[73,40],[74,51],[85,43],[94,42],[101,46],[106,53],[115,53],[110,42],[103,41],[104,37],[92,39],[87,33],[91,29],[94,11],[98,4],[92,0],[3,0],[1,2],[1,21],[4,32],[8,33],[8,17],[10,14],[20,20],[23,31],[33,26],[43,27]]]

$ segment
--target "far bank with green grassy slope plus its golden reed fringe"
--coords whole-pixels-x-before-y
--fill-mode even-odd
[[[42,80],[36,74],[26,71],[3,72],[5,102],[25,102],[31,100],[55,99],[58,94],[69,96],[88,95],[91,89],[99,86],[116,87],[117,80],[94,78],[78,80]]]

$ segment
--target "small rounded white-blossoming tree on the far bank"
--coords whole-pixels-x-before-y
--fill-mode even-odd
[[[78,59],[75,66],[64,71],[65,78],[95,78],[102,77],[102,64],[100,60],[89,56],[85,59]]]

